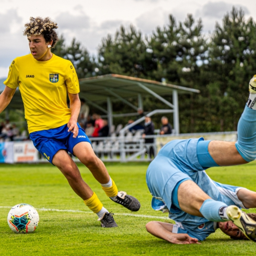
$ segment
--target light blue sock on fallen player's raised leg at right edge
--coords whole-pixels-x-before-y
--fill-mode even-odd
[[[247,162],[256,158],[256,110],[247,106],[238,122],[236,149]]]

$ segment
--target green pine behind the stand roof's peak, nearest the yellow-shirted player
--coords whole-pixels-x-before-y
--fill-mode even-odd
[[[103,38],[98,49],[99,74],[120,74],[150,78],[148,71],[155,63],[148,54],[147,44],[140,31],[134,26],[127,30],[121,26],[114,37]]]

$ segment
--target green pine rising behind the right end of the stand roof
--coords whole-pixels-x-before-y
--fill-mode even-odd
[[[151,78],[201,89],[200,66],[204,64],[207,50],[202,28],[202,20],[195,22],[190,14],[184,23],[180,22],[179,25],[170,15],[167,26],[164,26],[163,29],[156,28],[156,32],[148,40],[153,60],[157,63],[157,68],[153,70]],[[185,124],[180,126],[180,132],[194,132],[199,115],[198,95],[183,94],[179,98],[181,102],[180,122]],[[168,97],[168,100],[172,102],[172,97]],[[151,102],[150,107],[155,104],[155,100],[152,99]],[[166,106],[162,106],[162,108],[166,108]],[[172,116],[170,119],[172,120]]]

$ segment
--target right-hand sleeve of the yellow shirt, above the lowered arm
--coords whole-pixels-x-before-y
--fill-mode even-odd
[[[71,61],[65,72],[65,83],[69,93],[76,94],[80,92],[76,70]]]

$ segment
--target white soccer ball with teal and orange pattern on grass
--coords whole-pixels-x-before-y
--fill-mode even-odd
[[[39,215],[30,204],[16,204],[7,216],[7,223],[15,233],[32,233],[36,230]]]

